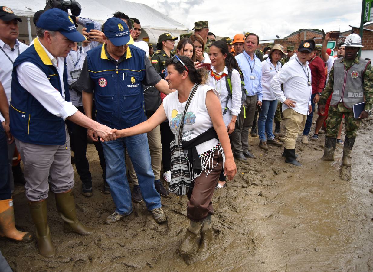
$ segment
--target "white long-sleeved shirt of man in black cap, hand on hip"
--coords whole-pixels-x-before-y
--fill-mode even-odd
[[[283,103],[286,99],[296,101],[297,104],[292,109],[297,113],[308,115],[312,94],[312,86],[308,85],[308,81],[311,82],[311,70],[308,67],[308,61],[305,65],[298,61],[295,57],[294,60],[285,63],[273,77],[270,88],[280,102]],[[283,84],[283,92],[281,84]],[[287,108],[288,106],[282,104],[282,111]]]

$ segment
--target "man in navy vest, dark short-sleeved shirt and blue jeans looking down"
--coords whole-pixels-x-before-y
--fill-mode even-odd
[[[123,20],[109,18],[104,26],[104,44],[88,51],[75,88],[83,91],[83,106],[88,117],[92,117],[94,97],[96,120],[115,129],[125,129],[146,120],[142,84],[155,86],[165,94],[171,91],[151,66],[145,51],[132,45],[133,39]],[[92,130],[88,130],[88,135],[97,140]],[[158,223],[166,222],[160,195],[154,187],[146,133],[104,142],[103,149],[106,181],[116,205],[115,212],[106,218],[106,224],[117,222],[132,212],[125,151],[131,158],[147,209]]]

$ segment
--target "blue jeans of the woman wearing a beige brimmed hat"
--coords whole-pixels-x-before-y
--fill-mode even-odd
[[[260,142],[265,142],[266,134],[268,139],[275,138],[273,135],[273,117],[275,117],[277,100],[263,100],[261,101],[261,111],[258,118],[258,135]],[[264,133],[265,132],[265,133]]]

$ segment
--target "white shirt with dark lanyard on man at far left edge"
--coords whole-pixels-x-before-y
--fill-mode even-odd
[[[19,42],[18,39],[16,39],[16,43],[14,45],[14,50],[10,50],[10,46],[1,41],[0,39],[0,46],[3,48],[3,50],[0,49],[0,82],[3,84],[4,91],[6,94],[6,98],[8,99],[8,103],[10,102],[10,95],[12,94],[12,72],[13,72],[13,63],[16,60],[18,55],[18,49],[19,54],[21,54],[23,51],[25,51],[28,46],[22,42]],[[9,58],[6,56],[8,55]],[[5,121],[4,117],[0,113],[0,122]]]

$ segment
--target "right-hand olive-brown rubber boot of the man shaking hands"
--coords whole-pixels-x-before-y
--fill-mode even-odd
[[[76,217],[75,202],[72,189],[65,193],[54,194],[56,197],[57,211],[63,220],[63,230],[65,233],[78,233],[90,235],[93,228],[85,227]]]

